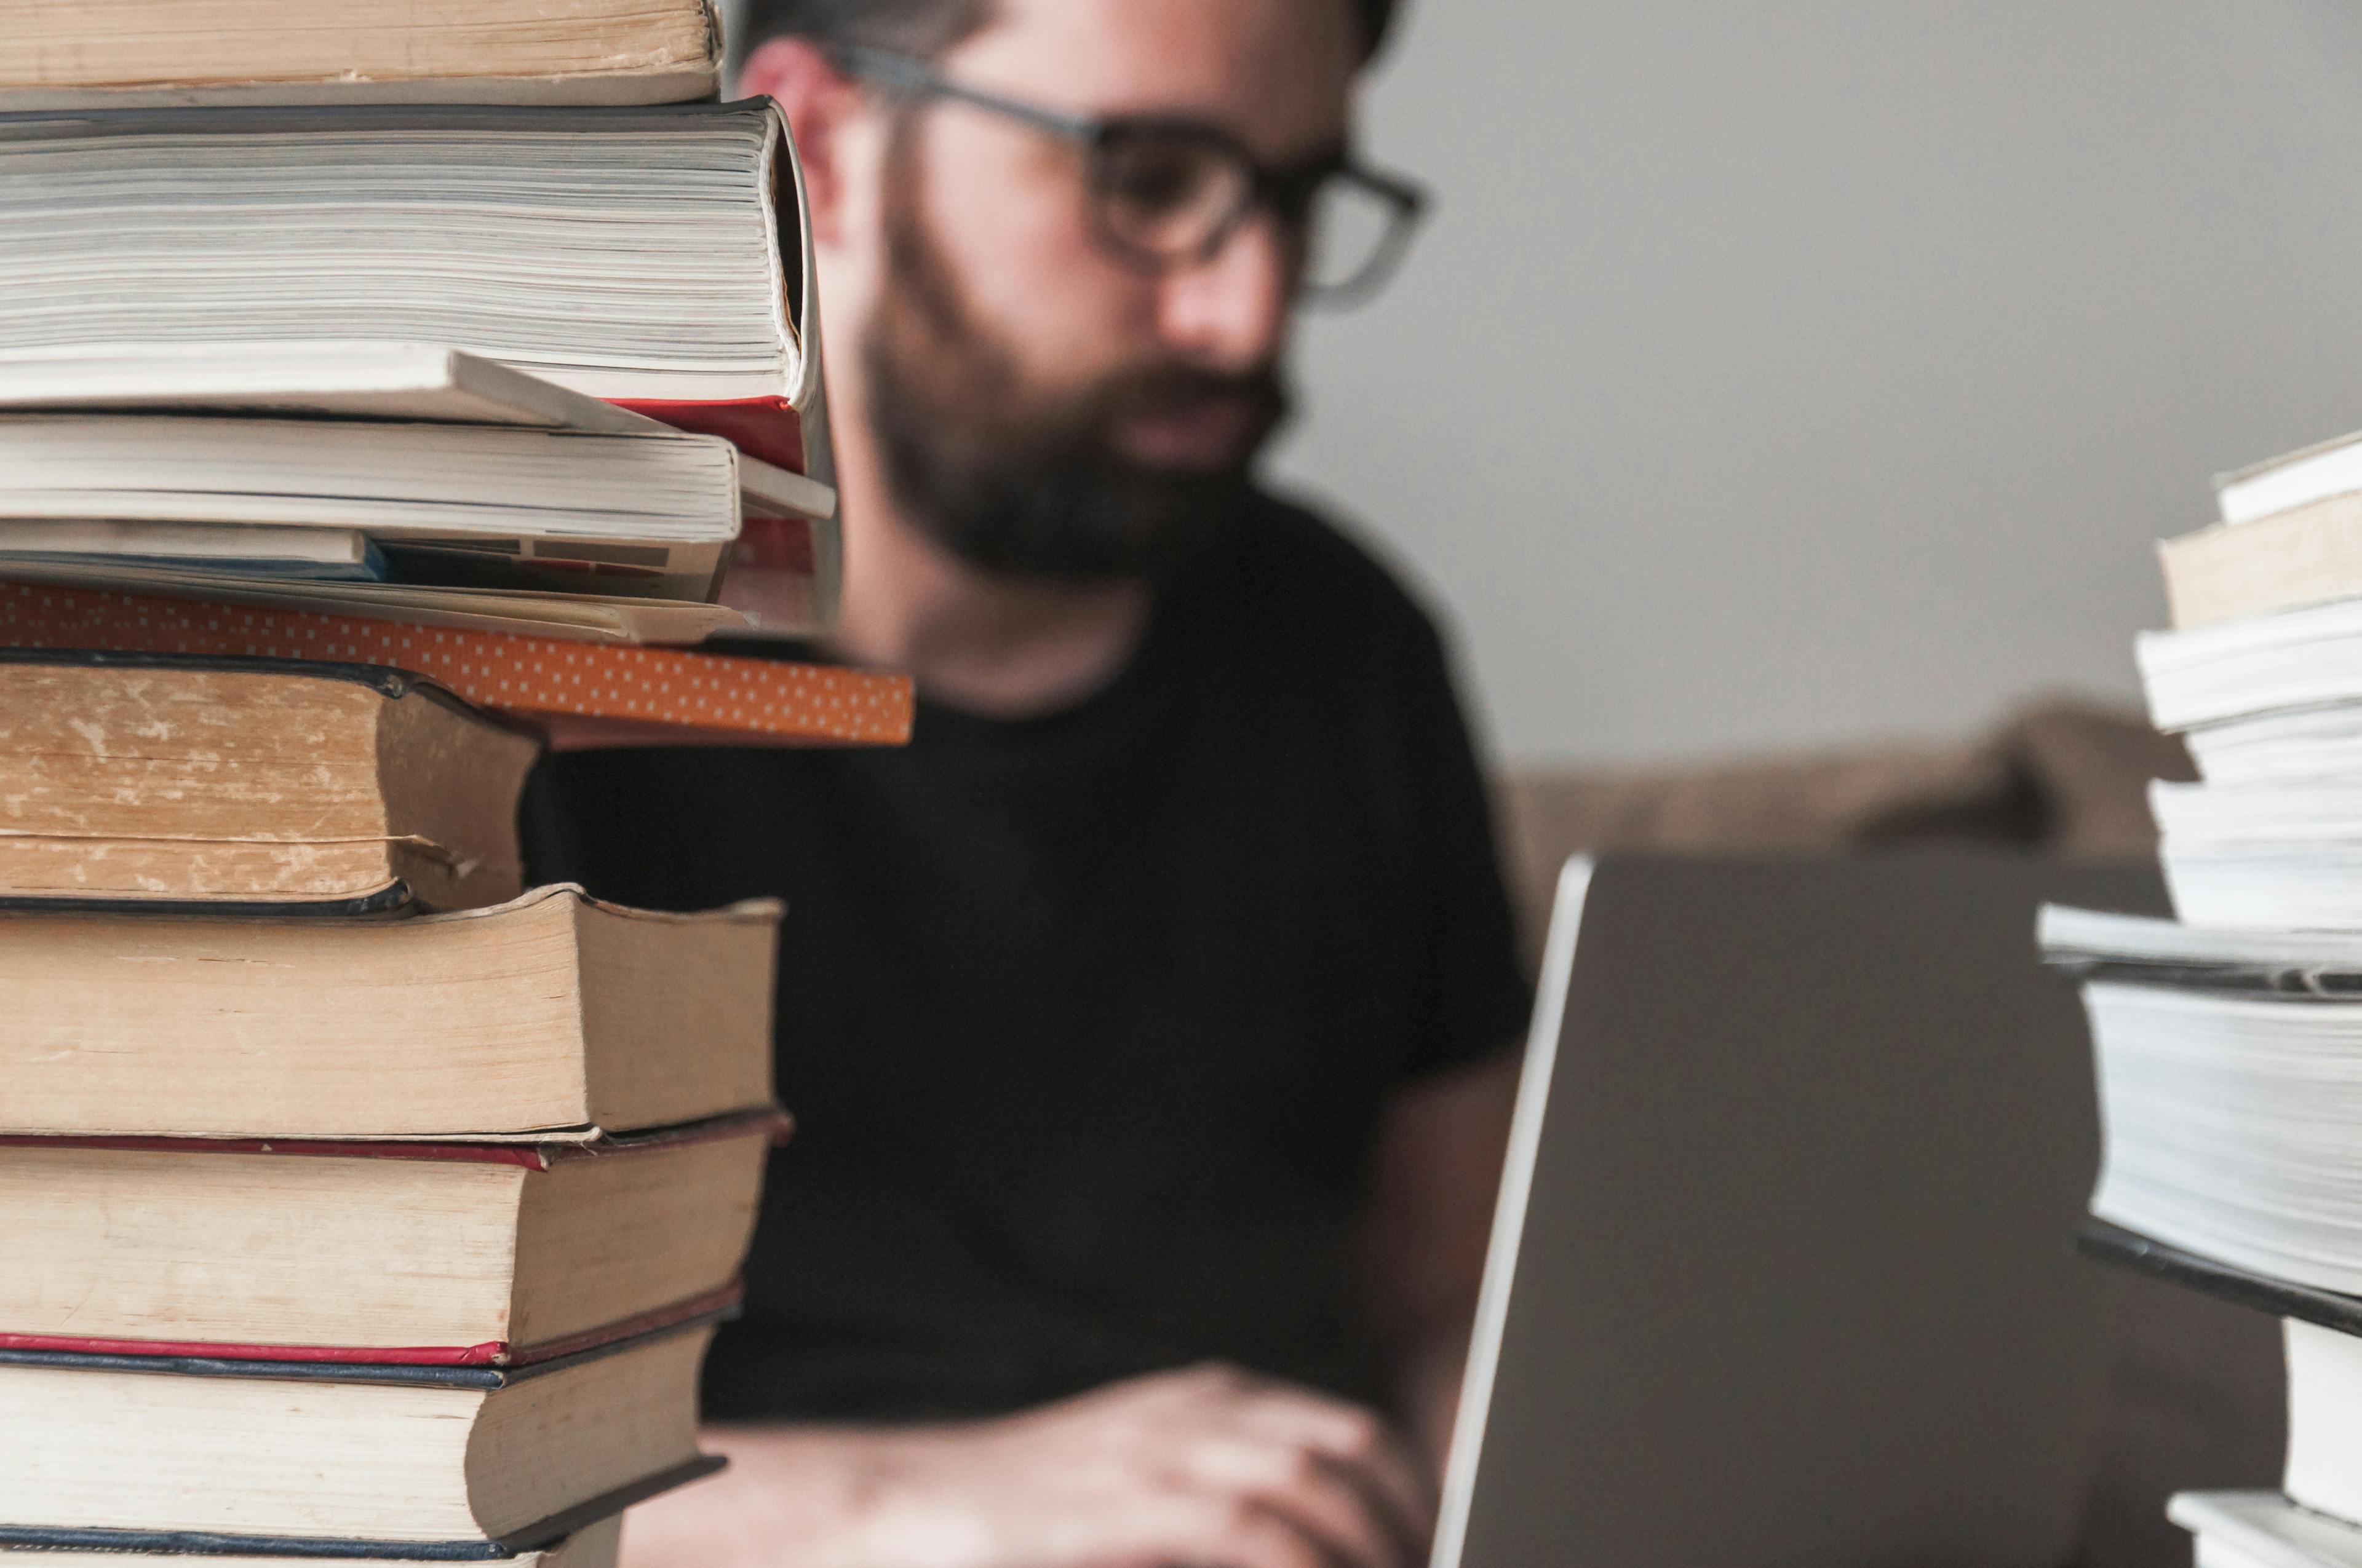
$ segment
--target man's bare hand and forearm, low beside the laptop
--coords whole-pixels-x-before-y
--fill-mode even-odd
[[[1434,1492],[1358,1405],[1228,1367],[909,1431],[739,1426],[626,1568],[1410,1568]]]

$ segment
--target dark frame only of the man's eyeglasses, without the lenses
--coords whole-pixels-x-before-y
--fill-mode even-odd
[[[1384,288],[1386,279],[1394,276],[1403,253],[1410,248],[1410,236],[1417,229],[1420,217],[1427,213],[1429,196],[1424,187],[1405,175],[1370,168],[1351,151],[1323,153],[1320,158],[1292,168],[1273,168],[1247,151],[1247,144],[1221,125],[1193,116],[1068,113],[1063,109],[1049,109],[1044,104],[1030,104],[1025,99],[954,83],[914,54],[874,50],[869,45],[834,45],[827,54],[836,71],[853,80],[916,97],[968,104],[971,109],[983,109],[985,113],[1032,125],[1035,130],[1082,146],[1084,153],[1089,153],[1089,177],[1094,191],[1108,189],[1108,170],[1115,165],[1113,153],[1124,142],[1143,137],[1162,142],[1195,142],[1245,170],[1245,196],[1238,205],[1224,215],[1224,220],[1198,246],[1181,253],[1150,250],[1129,241],[1108,222],[1105,205],[1091,203],[1101,241],[1115,255],[1124,257],[1134,267],[1141,267],[1143,272],[1172,272],[1174,267],[1214,260],[1257,208],[1268,208],[1283,224],[1301,234],[1309,227],[1311,208],[1320,189],[1332,179],[1344,179],[1379,201],[1386,210],[1386,234],[1379,239],[1370,260],[1363,262],[1361,272],[1335,283],[1304,281],[1299,293],[1306,300],[1323,305],[1358,305]]]

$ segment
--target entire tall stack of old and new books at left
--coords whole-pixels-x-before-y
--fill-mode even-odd
[[[612,1568],[697,1455],[779,909],[524,888],[546,739],[898,744],[704,0],[0,50],[0,1563]]]

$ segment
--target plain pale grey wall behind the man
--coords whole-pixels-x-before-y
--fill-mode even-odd
[[[2362,427],[2343,2],[1410,0],[1365,128],[1438,208],[1278,472],[1509,767],[2131,704],[2152,543]]]

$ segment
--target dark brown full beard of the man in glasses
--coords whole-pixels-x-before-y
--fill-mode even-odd
[[[1044,392],[976,324],[921,217],[905,120],[886,156],[886,290],[862,338],[867,418],[905,517],[992,576],[1058,583],[1155,581],[1240,515],[1254,453],[1287,418],[1275,366],[1216,373],[1162,359]],[[1136,416],[1238,401],[1242,456],[1214,470],[1155,468],[1117,446]]]

